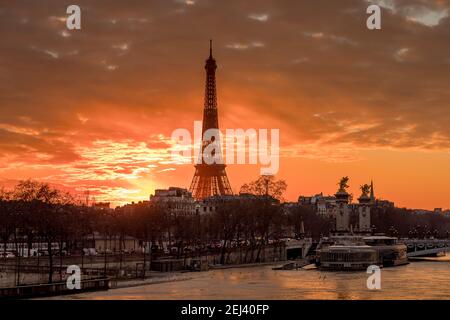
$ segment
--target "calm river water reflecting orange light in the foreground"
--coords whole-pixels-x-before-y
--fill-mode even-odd
[[[381,290],[369,290],[365,272],[274,271],[271,266],[186,274],[183,281],[69,299],[450,299],[450,256],[381,270]],[[61,297],[59,297],[61,298]]]

